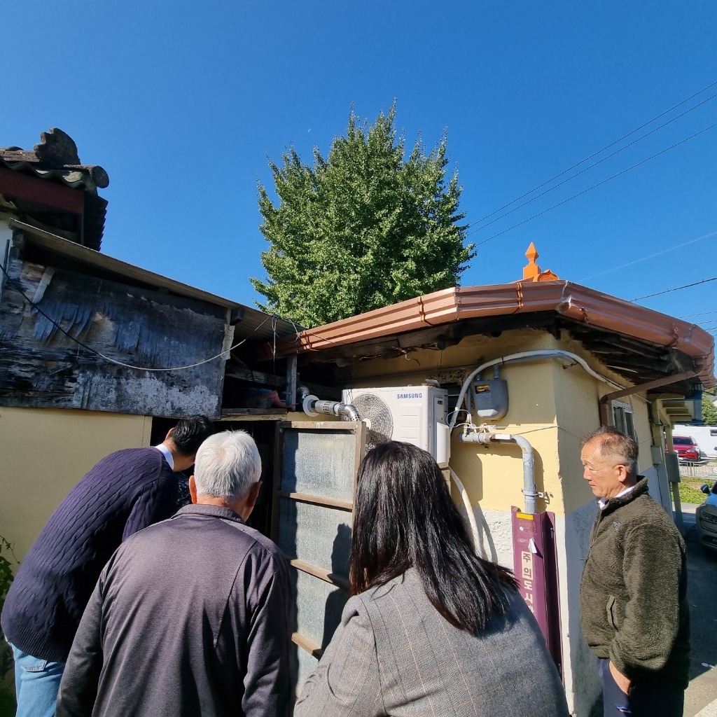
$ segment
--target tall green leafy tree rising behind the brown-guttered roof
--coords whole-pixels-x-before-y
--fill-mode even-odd
[[[267,280],[251,280],[262,310],[309,328],[459,284],[475,252],[446,137],[407,154],[395,110],[373,125],[351,110],[346,136],[326,158],[314,148],[313,166],[293,148],[270,162],[277,204],[259,184]]]

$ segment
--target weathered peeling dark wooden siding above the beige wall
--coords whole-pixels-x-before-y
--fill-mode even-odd
[[[221,415],[222,359],[144,371],[95,351],[155,369],[204,361],[222,351],[223,308],[20,260],[11,260],[8,272],[0,300],[0,404]]]

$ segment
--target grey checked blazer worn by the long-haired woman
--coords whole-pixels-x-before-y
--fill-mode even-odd
[[[414,569],[346,603],[295,717],[567,717],[558,673],[516,592],[478,635],[450,625]]]

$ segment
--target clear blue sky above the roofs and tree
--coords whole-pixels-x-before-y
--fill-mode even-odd
[[[396,98],[409,146],[445,129],[477,229],[717,81],[711,0],[15,0],[2,25],[0,146],[65,130],[110,176],[105,253],[248,304],[267,157],[326,153],[352,104],[372,120]],[[717,232],[717,128],[490,238],[714,123],[717,98],[475,231],[463,285],[520,278],[531,241],[543,269],[629,300],[717,276],[717,234],[693,241]],[[707,282],[640,303],[682,316],[716,296]]]

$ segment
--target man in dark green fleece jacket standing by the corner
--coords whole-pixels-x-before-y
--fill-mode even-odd
[[[599,511],[580,583],[605,717],[681,717],[690,666],[685,543],[637,475],[637,444],[612,427],[583,440]]]

